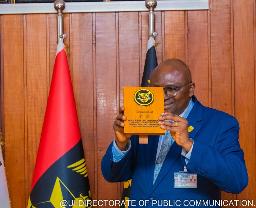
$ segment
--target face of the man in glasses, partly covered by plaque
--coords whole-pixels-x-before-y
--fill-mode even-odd
[[[182,86],[191,81],[184,70],[172,69],[170,66],[156,68],[150,79],[151,87]],[[190,98],[194,94],[194,83],[187,84],[178,90],[177,95],[169,97],[163,92],[165,111],[180,115],[188,106]]]

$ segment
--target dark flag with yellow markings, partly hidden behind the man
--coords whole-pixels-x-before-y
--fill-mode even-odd
[[[147,53],[144,65],[144,71],[142,75],[141,87],[148,87],[150,85],[150,76],[154,69],[157,67],[155,39],[150,37],[147,42]],[[130,198],[132,180],[124,182],[122,200],[126,202],[126,205],[122,205],[121,208],[127,208],[127,200]]]

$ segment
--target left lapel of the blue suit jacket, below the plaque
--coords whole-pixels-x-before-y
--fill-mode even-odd
[[[151,190],[153,186],[153,177],[156,162],[156,152],[159,142],[159,136],[150,136],[146,145],[145,164],[148,188]]]

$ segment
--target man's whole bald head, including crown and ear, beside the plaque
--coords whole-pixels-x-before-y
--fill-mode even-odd
[[[165,111],[177,115],[187,108],[195,89],[188,66],[179,59],[160,63],[151,75],[150,86],[176,90],[173,96],[164,92],[164,104]]]

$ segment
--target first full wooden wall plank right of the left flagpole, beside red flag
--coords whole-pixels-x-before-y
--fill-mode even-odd
[[[72,14],[72,77],[89,183],[95,198],[93,15]],[[86,72],[86,73],[85,73]],[[86,115],[86,116],[85,116]],[[96,161],[97,162],[97,161]]]

